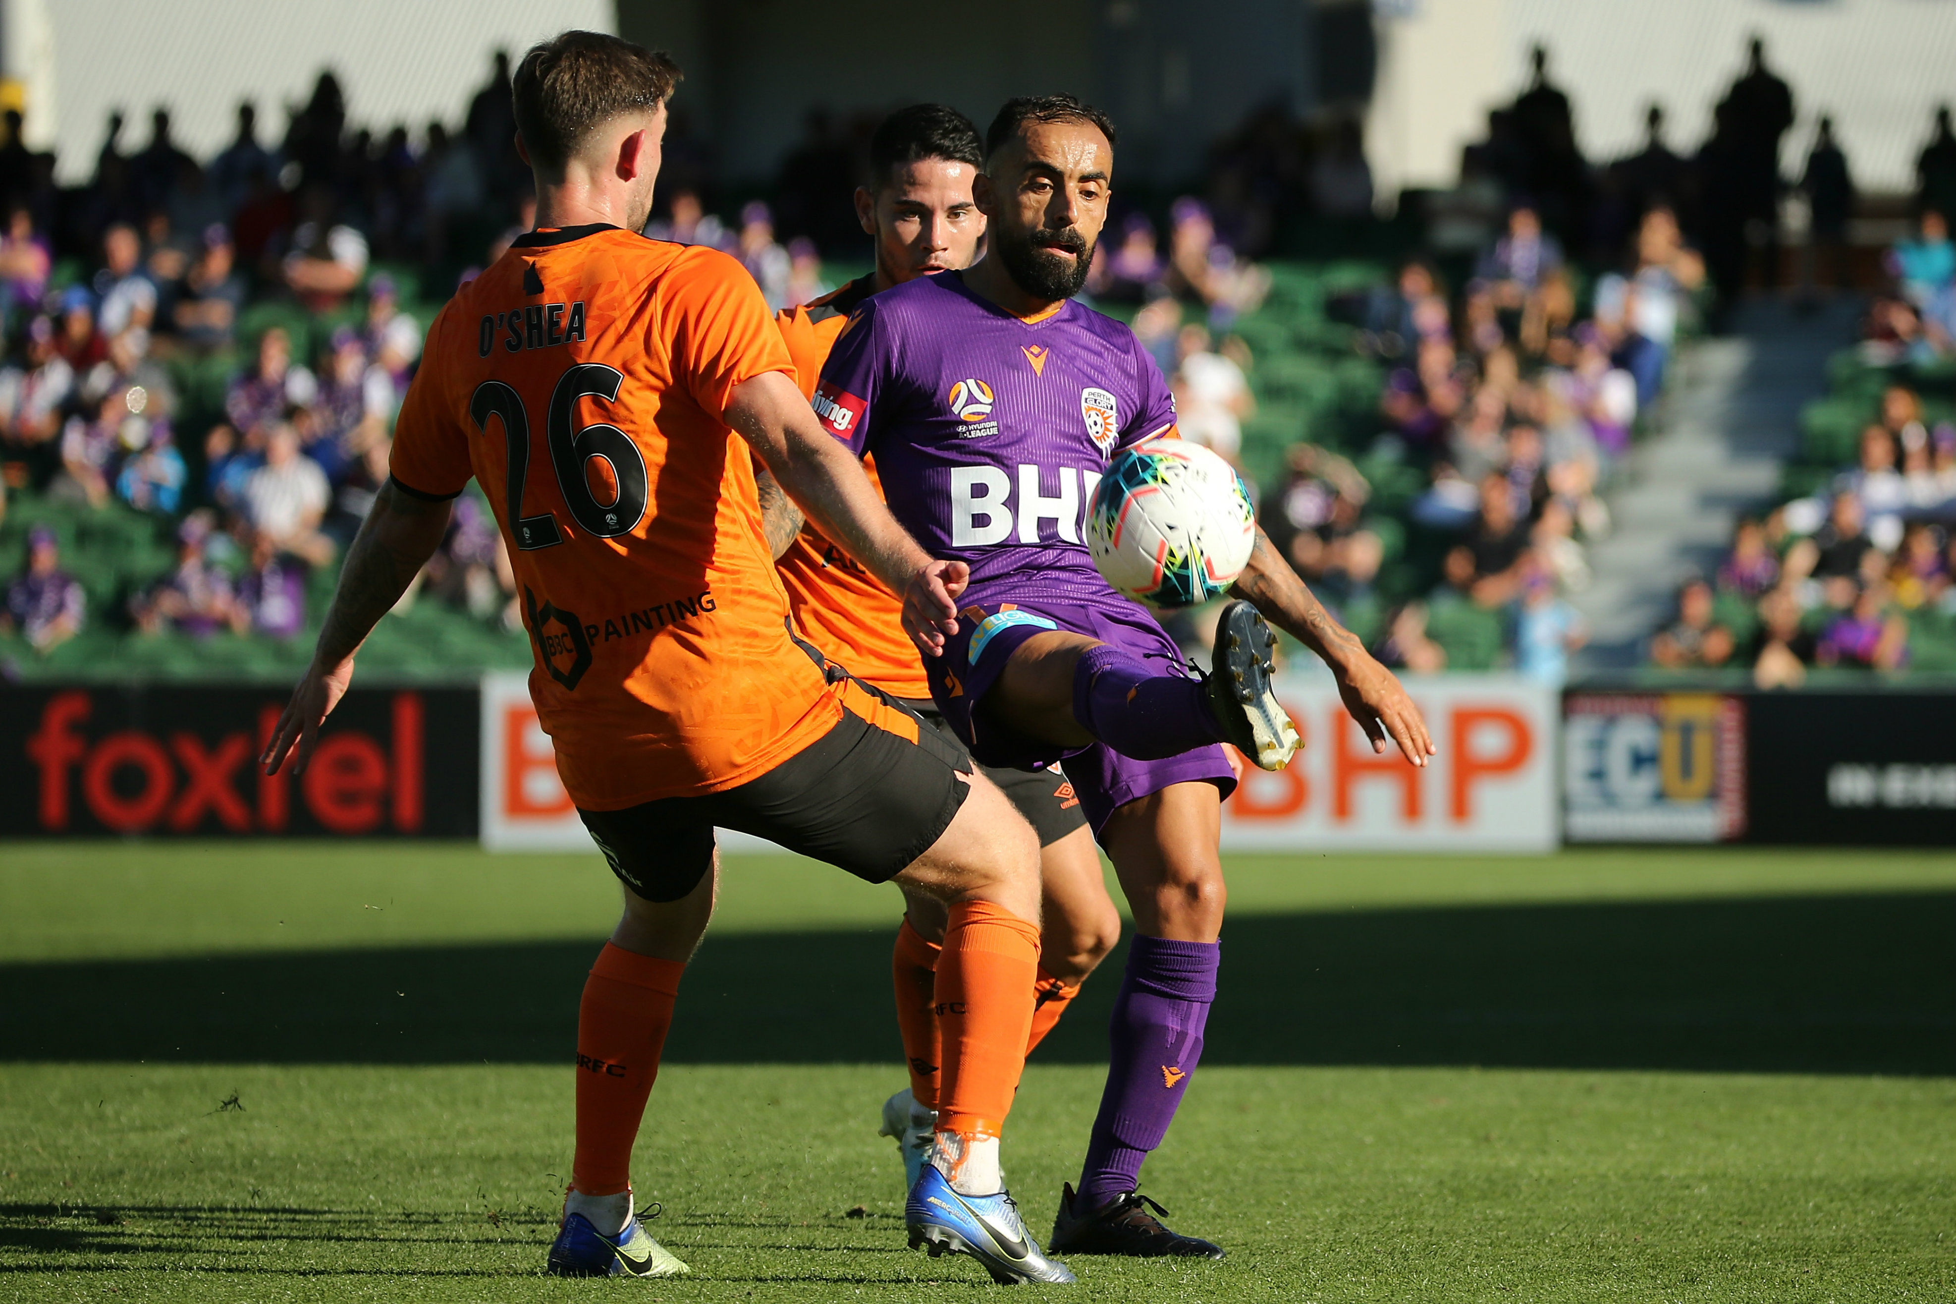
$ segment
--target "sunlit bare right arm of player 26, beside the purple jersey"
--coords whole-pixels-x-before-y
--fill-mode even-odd
[[[784,372],[735,386],[726,419],[816,529],[904,597],[904,630],[937,656],[945,636],[958,632],[956,595],[964,591],[968,568],[933,560],[917,546],[884,507],[863,464],[822,431],[822,421]]]

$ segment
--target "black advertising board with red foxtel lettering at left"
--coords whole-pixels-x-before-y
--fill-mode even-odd
[[[8,689],[4,836],[475,832],[475,689],[352,689],[303,775],[264,775],[284,687]]]

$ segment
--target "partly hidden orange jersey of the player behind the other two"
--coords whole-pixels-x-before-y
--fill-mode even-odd
[[[872,286],[874,282],[865,276],[814,303],[775,313],[780,337],[794,358],[802,394],[816,392],[835,337],[843,333],[849,313],[857,302],[868,298]],[[868,472],[876,493],[882,493],[874,458],[863,458],[863,470]],[[814,525],[804,525],[780,554],[777,568],[788,587],[794,623],[825,656],[892,697],[931,695],[917,644],[904,632],[902,599],[861,562],[829,542]]]

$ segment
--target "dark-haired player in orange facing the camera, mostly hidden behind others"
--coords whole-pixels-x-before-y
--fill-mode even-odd
[[[804,394],[814,394],[829,345],[857,303],[917,276],[966,268],[984,237],[984,213],[972,200],[972,178],[984,166],[984,143],[964,114],[943,104],[913,104],[882,121],[870,139],[870,186],[857,190],[857,217],[876,239],[876,270],[806,307],[777,313],[794,356]],[[863,468],[876,478],[876,460]],[[953,738],[923,675],[917,644],[904,634],[902,603],[843,548],[800,513],[769,480],[761,482],[767,529],[780,552],[780,580],[794,623],[853,675],[898,697]],[[784,550],[782,550],[784,548]],[[986,775],[1033,824],[1041,842],[1043,938],[1039,1004],[1027,1053],[1058,1024],[1080,983],[1121,940],[1121,914],[1101,877],[1093,834],[1080,813],[1074,785],[1056,766],[986,769]],[[931,1147],[937,1118],[941,1028],[933,981],[945,936],[943,905],[906,889],[904,922],[896,934],[892,977],[896,1016],[910,1065],[910,1087],[882,1108],[882,1134],[904,1155],[906,1188],[915,1183]]]

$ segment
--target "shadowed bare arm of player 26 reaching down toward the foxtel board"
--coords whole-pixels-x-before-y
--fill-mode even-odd
[[[340,587],[333,593],[333,609],[327,611],[327,623],[319,630],[313,664],[305,668],[286,715],[278,719],[270,746],[258,758],[266,773],[278,773],[295,746],[291,769],[305,773],[319,724],[340,705],[354,677],[354,652],[379,619],[393,611],[401,593],[442,544],[448,511],[448,499],[417,497],[393,480],[381,486],[368,519],[360,523],[354,546],[346,550]]]

